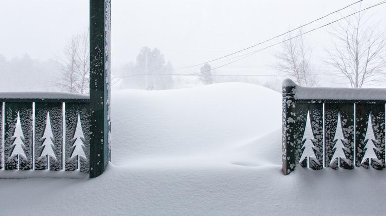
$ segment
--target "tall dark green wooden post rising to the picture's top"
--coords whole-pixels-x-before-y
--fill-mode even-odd
[[[110,160],[110,2],[90,0],[90,178]]]

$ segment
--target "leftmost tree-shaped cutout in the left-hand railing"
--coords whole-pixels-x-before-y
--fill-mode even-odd
[[[13,133],[12,139],[12,150],[11,155],[8,157],[9,159],[14,158],[16,155],[19,155],[19,157],[23,157],[24,160],[27,160],[27,155],[25,155],[24,152],[24,135],[23,130],[21,129],[21,122],[20,122],[20,115],[19,112],[17,112],[17,118],[16,118],[16,125],[15,125],[15,132]]]

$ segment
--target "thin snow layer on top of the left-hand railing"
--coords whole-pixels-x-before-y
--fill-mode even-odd
[[[65,92],[0,92],[0,99],[89,99],[90,96]]]

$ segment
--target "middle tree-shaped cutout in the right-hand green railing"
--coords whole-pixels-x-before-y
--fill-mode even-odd
[[[334,154],[331,158],[330,167],[338,169],[338,166],[341,164],[341,160],[348,163],[348,161],[346,160],[346,155],[348,155],[350,151],[348,148],[350,143],[343,136],[343,126],[340,120],[340,113],[338,113],[337,130],[335,132],[334,139],[334,148],[332,149]]]

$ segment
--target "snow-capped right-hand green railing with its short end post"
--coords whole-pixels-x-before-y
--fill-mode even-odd
[[[283,173],[297,165],[313,170],[385,168],[385,104],[386,89],[307,88],[286,79]],[[307,144],[313,155],[304,157]],[[336,157],[338,151],[344,156]]]

